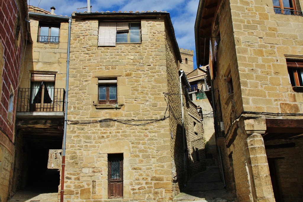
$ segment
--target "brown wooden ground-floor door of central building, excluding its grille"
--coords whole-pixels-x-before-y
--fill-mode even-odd
[[[112,159],[119,161],[119,178],[112,178]],[[123,198],[123,154],[108,154],[108,198]]]

